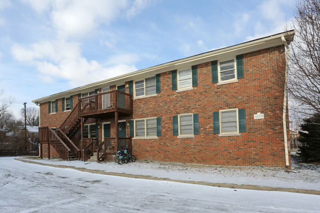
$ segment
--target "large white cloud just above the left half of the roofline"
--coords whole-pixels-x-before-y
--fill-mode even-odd
[[[13,45],[11,54],[17,61],[27,62],[40,72],[38,77],[45,83],[65,79],[72,87],[101,81],[136,71],[131,63],[138,60],[135,54],[112,57],[102,65],[88,61],[81,55],[80,44],[64,41],[40,41],[29,48]]]

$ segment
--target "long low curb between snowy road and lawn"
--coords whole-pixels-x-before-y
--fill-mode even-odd
[[[119,176],[119,177],[125,177],[125,178],[138,178],[138,179],[153,180],[153,181],[170,181],[170,182],[177,182],[177,183],[190,183],[190,184],[208,185],[208,186],[234,188],[234,189],[250,189],[250,190],[259,190],[259,191],[283,191],[283,192],[320,195],[320,191],[311,190],[311,189],[282,188],[282,187],[245,185],[245,184],[239,185],[239,184],[233,184],[233,183],[208,183],[208,182],[201,182],[201,181],[183,181],[183,180],[174,180],[174,179],[169,179],[169,178],[157,178],[157,177],[149,176],[149,175],[132,175],[132,174],[127,174],[127,173],[105,172],[102,170],[86,169],[86,168],[81,168],[81,167],[79,168],[79,167],[73,167],[73,166],[52,165],[52,164],[34,162],[31,160],[18,159],[18,158],[14,158],[14,159],[25,162],[25,163],[38,164],[38,165],[43,165],[43,166],[51,166],[51,167],[56,167],[56,168],[74,169],[74,170],[81,171],[81,172],[88,172],[88,173],[94,173],[94,174],[100,174],[100,175],[112,175],[112,176]]]

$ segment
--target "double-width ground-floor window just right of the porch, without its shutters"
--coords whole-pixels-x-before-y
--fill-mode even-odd
[[[135,137],[157,136],[157,118],[147,118],[134,120]]]

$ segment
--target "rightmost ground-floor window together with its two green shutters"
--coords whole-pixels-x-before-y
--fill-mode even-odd
[[[245,109],[220,110],[213,113],[214,134],[234,134],[246,132]]]

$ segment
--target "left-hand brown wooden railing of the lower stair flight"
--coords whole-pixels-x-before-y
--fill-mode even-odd
[[[70,149],[51,128],[48,129],[48,140],[49,144],[58,152],[63,160],[70,160]]]

